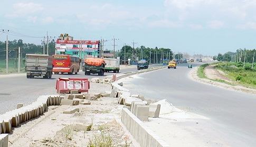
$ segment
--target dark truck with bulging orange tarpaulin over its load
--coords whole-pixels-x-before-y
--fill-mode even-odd
[[[82,71],[84,75],[98,74],[104,75],[106,61],[102,58],[86,58],[82,65]]]

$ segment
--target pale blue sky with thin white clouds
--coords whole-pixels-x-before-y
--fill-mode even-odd
[[[0,41],[41,45],[67,33],[104,40],[109,50],[129,45],[216,56],[255,49],[255,7],[256,0],[2,0]]]

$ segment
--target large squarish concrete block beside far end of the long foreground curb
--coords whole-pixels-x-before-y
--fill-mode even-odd
[[[135,116],[141,121],[148,121],[148,110],[149,106],[136,106]]]

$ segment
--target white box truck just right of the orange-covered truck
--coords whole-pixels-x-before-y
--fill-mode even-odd
[[[103,58],[106,61],[105,72],[113,71],[119,72],[120,69],[120,57],[114,58]]]

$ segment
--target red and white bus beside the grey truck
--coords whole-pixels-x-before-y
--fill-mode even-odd
[[[68,72],[69,75],[78,74],[80,69],[81,58],[71,55],[52,55],[53,72],[54,74],[63,74]]]

